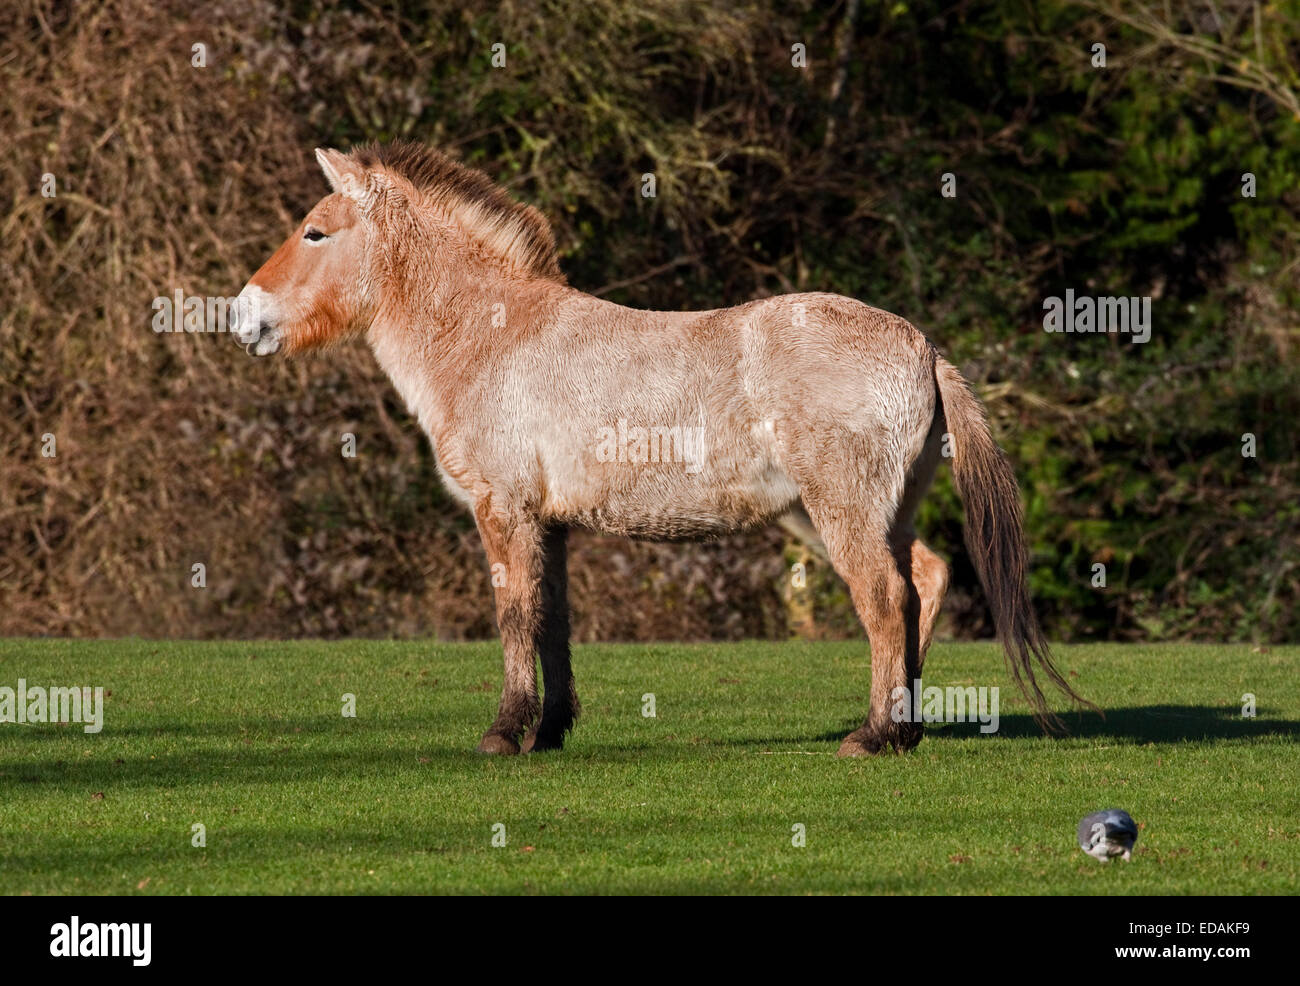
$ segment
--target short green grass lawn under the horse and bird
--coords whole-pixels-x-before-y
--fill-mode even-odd
[[[473,748],[498,644],[0,641],[0,687],[110,692],[98,735],[0,723],[0,891],[1300,888],[1300,648],[1084,645],[1058,663],[1105,722],[1044,739],[992,645],[937,644],[926,684],[998,686],[1000,731],[931,726],[907,756],[845,761],[864,643],[578,646],[567,749],[491,758]],[[1110,806],[1143,826],[1127,865],[1075,844]]]

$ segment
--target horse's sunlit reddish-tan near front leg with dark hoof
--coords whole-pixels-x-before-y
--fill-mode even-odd
[[[506,674],[497,721],[478,743],[481,753],[519,753],[519,738],[533,725],[537,700],[537,632],[542,610],[542,531],[525,514],[495,510],[491,497],[474,507],[497,591],[497,624]]]

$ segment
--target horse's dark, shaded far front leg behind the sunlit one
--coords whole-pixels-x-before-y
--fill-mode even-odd
[[[577,689],[569,667],[568,531],[551,528],[542,537],[542,618],[537,650],[542,656],[542,718],[524,738],[525,753],[559,749],[577,718]]]

